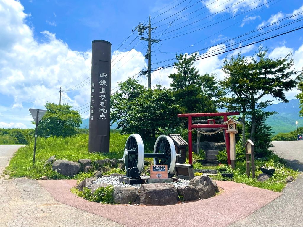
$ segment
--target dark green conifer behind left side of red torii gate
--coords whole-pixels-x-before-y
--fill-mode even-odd
[[[213,112],[211,103],[202,92],[202,77],[193,66],[197,53],[189,58],[187,55],[176,55],[175,68],[177,73],[168,77],[173,81],[170,84],[177,104],[182,113]]]

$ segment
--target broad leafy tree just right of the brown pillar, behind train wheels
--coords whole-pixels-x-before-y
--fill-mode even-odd
[[[144,88],[130,78],[119,87],[121,91],[111,97],[111,120],[117,122],[122,134],[139,133],[143,139],[155,138],[161,128],[175,124],[179,107],[170,90],[159,85]]]

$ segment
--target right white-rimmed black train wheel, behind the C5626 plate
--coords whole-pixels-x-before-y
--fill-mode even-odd
[[[172,139],[165,135],[159,136],[154,146],[154,153],[164,153],[164,158],[154,158],[154,164],[167,165],[168,173],[172,173],[176,164],[176,149]]]

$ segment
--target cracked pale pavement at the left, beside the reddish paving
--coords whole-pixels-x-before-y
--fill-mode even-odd
[[[11,157],[19,147],[0,146],[0,176],[8,164],[8,156]],[[57,202],[36,180],[26,178],[7,180],[1,177],[0,227],[8,226],[120,227],[123,225]]]

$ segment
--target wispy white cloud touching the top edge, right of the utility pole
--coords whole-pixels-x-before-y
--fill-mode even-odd
[[[267,0],[263,1],[255,1],[255,0],[245,0],[245,1],[239,1],[239,0],[231,0],[231,1],[226,1],[226,0],[218,0],[218,1],[213,1],[213,0],[207,0],[203,1],[203,4],[206,5],[206,7],[210,10],[211,13],[218,13],[222,11],[222,13],[229,13],[229,12],[234,12],[239,10],[242,7],[248,6],[247,8],[252,9],[255,8],[259,5],[262,5],[266,3]],[[247,10],[241,9],[243,10]]]

